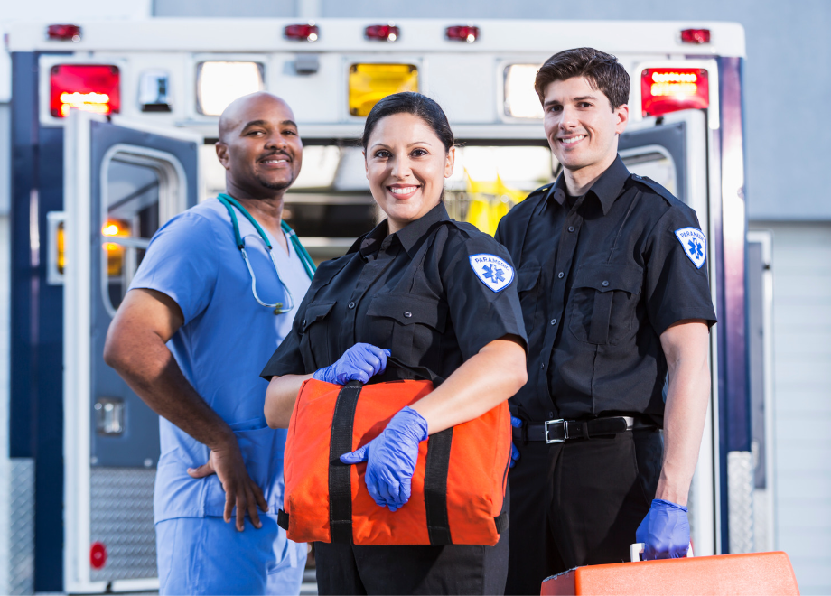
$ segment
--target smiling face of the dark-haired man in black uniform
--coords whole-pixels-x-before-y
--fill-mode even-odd
[[[571,172],[600,175],[618,153],[618,135],[626,129],[629,107],[612,108],[588,79],[555,80],[543,101],[548,144],[557,160]]]

